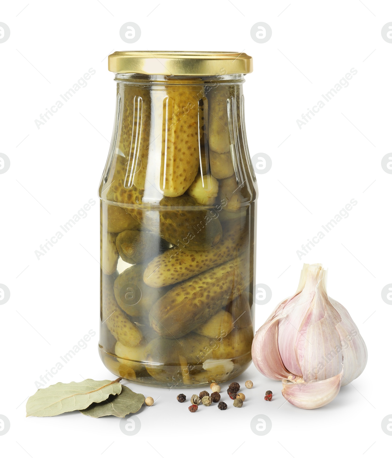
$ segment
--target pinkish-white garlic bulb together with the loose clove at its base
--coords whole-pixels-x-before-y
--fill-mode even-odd
[[[283,300],[257,331],[252,358],[266,377],[302,409],[331,402],[365,369],[367,349],[348,311],[328,297],[327,272],[304,264],[294,296]]]

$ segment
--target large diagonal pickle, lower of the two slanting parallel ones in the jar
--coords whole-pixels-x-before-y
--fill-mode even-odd
[[[243,254],[174,286],[152,306],[150,325],[164,337],[189,333],[244,291],[246,264]]]

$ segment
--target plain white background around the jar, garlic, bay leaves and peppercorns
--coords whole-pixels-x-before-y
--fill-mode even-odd
[[[392,4],[27,1],[3,2],[0,12],[0,22],[11,29],[0,44],[0,153],[11,160],[0,175],[0,283],[11,291],[0,306],[0,414],[11,421],[0,436],[1,455],[376,457],[390,450],[392,437],[381,430],[381,420],[392,413],[391,305],[381,299],[381,289],[392,283],[392,175],[381,168],[381,158],[391,152],[392,44],[382,39],[381,27],[392,21]],[[142,30],[135,44],[119,35],[129,21]],[[272,27],[267,43],[251,38],[256,22]],[[212,406],[190,414],[188,402],[176,401],[177,391],[126,382],[156,399],[138,412],[142,428],[135,436],[125,436],[115,417],[25,418],[34,382],[90,329],[95,337],[51,383],[113,379],[97,351],[97,188],[115,105],[106,56],[139,49],[244,51],[253,57],[244,86],[250,155],[272,158],[272,169],[257,175],[256,283],[270,286],[272,300],[257,306],[256,328],[294,294],[303,262],[321,262],[329,269],[328,293],[348,309],[369,351],[364,373],[326,407],[283,404],[280,382],[251,367],[239,379],[255,384],[244,388],[244,408],[228,402],[224,412]],[[349,86],[299,129],[301,114],[353,67],[358,73]],[[87,87],[38,129],[34,120],[89,68],[96,73]],[[39,245],[91,198],[97,204],[87,217],[38,261]],[[353,198],[358,204],[349,217],[299,260],[301,245]],[[271,403],[263,399],[267,389],[274,393]],[[258,414],[272,420],[266,436],[250,429]]]

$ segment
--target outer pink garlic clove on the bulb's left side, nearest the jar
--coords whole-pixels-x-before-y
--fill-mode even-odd
[[[267,358],[265,355],[268,355]],[[291,374],[286,371],[278,350],[278,318],[262,326],[252,344],[253,363],[257,369],[272,380],[282,380]]]

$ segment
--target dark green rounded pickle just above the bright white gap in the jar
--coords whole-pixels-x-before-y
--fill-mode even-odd
[[[125,230],[117,235],[116,247],[123,261],[137,264],[166,250],[169,244],[152,232]]]

